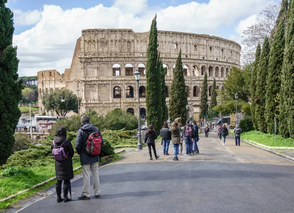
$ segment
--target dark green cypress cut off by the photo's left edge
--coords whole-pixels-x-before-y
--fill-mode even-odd
[[[17,82],[17,48],[12,47],[13,13],[5,3],[7,0],[0,0],[0,165],[12,152],[14,130],[21,117],[18,102],[22,97],[22,81]]]

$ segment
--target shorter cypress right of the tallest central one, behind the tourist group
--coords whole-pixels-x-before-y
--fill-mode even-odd
[[[187,119],[186,105],[188,104],[188,96],[183,73],[181,49],[173,69],[170,96],[170,119],[173,121],[175,118],[181,118],[182,121],[185,121]]]

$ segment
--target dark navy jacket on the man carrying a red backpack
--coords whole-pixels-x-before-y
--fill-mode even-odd
[[[101,135],[99,129],[91,123],[84,123],[77,130],[75,150],[76,150],[77,154],[79,154],[79,156],[80,156],[81,165],[93,164],[93,163],[97,163],[99,161],[98,155],[97,156],[89,155],[84,152],[87,141],[88,141],[88,137],[93,132],[98,132]],[[101,138],[102,138],[102,135],[101,135]],[[104,143],[104,141],[102,139],[101,146],[103,145],[103,143]]]

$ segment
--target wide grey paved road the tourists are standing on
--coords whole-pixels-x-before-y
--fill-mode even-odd
[[[161,155],[158,142],[158,160],[150,161],[144,147],[101,167],[100,198],[92,190],[90,200],[77,200],[79,178],[72,183],[72,202],[57,204],[53,193],[20,212],[293,213],[294,162],[234,143],[228,138],[223,146],[216,135],[201,135],[200,154],[179,156],[174,162],[172,155]]]

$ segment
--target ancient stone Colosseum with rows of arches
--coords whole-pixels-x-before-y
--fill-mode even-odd
[[[40,113],[44,111],[42,96],[67,88],[82,99],[80,112],[95,110],[101,115],[120,108],[138,115],[140,97],[142,117],[146,117],[146,62],[148,32],[132,29],[85,29],[77,39],[70,69],[38,72]],[[208,93],[213,79],[222,89],[231,66],[240,67],[241,46],[233,41],[206,34],[158,31],[158,51],[167,68],[166,96],[172,85],[172,70],[178,52],[182,51],[183,74],[188,93],[189,115],[199,118],[201,84],[208,76]],[[141,72],[139,92],[133,73]],[[210,97],[208,97],[210,98]]]

